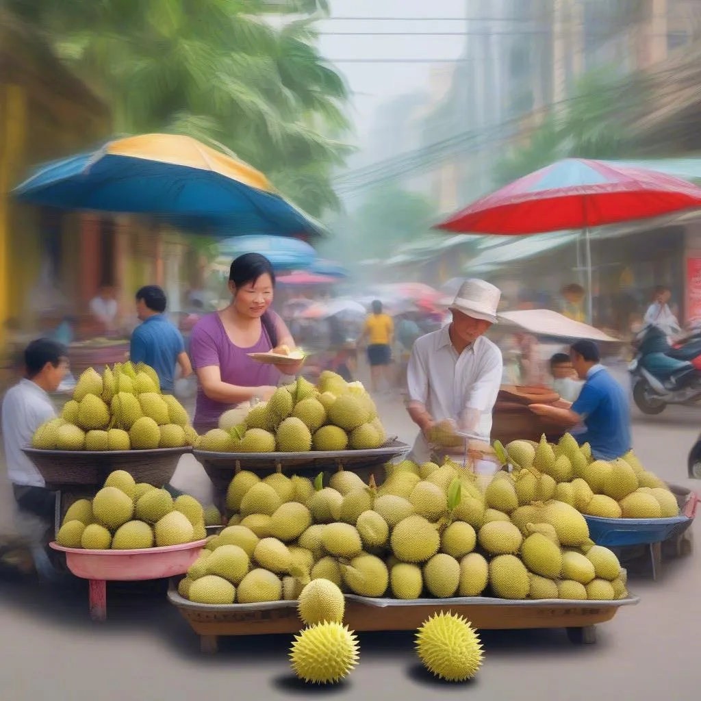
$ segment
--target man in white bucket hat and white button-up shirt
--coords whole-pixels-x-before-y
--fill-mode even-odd
[[[450,324],[414,343],[407,369],[407,408],[421,429],[411,455],[417,463],[430,460],[427,433],[438,424],[489,443],[503,362],[499,348],[483,334],[496,324],[500,298],[494,285],[465,280],[450,306]]]

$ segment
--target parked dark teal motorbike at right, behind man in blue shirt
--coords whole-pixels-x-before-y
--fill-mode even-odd
[[[633,400],[644,414],[661,414],[668,404],[701,404],[701,333],[672,346],[665,332],[648,325],[633,346],[628,372]]]

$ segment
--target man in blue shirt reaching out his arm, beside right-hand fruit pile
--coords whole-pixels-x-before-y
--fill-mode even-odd
[[[601,365],[599,348],[593,341],[577,341],[570,348],[572,367],[584,386],[569,407],[531,404],[531,411],[570,429],[584,422],[586,430],[575,434],[577,442],[589,443],[597,460],[615,460],[632,447],[628,396]],[[562,402],[566,404],[566,402]]]

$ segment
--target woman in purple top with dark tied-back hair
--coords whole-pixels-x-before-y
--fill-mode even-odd
[[[248,357],[273,348],[295,348],[285,322],[269,309],[275,273],[258,253],[236,258],[229,272],[231,304],[207,314],[190,334],[190,358],[198,378],[194,427],[198,433],[217,428],[224,411],[253,397],[268,400],[280,379],[280,369]],[[301,367],[285,365],[285,374]]]

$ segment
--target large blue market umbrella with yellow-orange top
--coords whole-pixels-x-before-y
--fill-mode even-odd
[[[320,236],[323,228],[287,202],[252,166],[172,134],[115,139],[43,165],[18,199],[64,210],[156,215],[217,236]]]

